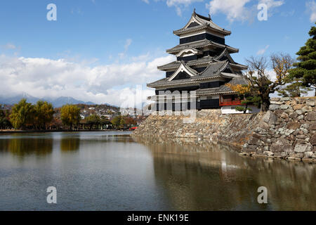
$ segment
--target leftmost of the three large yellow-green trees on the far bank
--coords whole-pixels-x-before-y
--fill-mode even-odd
[[[25,98],[15,104],[10,115],[10,122],[15,129],[25,129],[27,123],[34,119],[34,105],[27,103]]]

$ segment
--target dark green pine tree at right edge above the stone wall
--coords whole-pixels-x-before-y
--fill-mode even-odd
[[[298,62],[294,63],[295,68],[289,74],[291,79],[300,79],[303,86],[315,89],[316,96],[316,27],[312,26],[308,34],[310,39],[296,53]]]

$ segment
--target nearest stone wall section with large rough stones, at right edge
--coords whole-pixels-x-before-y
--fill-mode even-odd
[[[316,98],[272,98],[244,155],[316,160]]]

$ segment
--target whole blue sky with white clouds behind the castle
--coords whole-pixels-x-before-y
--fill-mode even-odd
[[[48,20],[56,6],[56,20]],[[259,4],[268,8],[258,20]],[[0,3],[0,96],[71,96],[81,101],[124,105],[154,94],[146,83],[175,60],[173,30],[193,9],[211,14],[232,34],[226,44],[245,64],[250,56],[296,52],[316,21],[316,1],[295,0],[2,0]]]

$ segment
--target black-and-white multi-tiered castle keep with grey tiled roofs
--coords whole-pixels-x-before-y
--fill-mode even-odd
[[[197,110],[221,108],[223,113],[238,113],[235,107],[242,105],[241,100],[225,84],[248,84],[242,77],[242,70],[247,67],[230,56],[239,52],[225,44],[225,37],[231,32],[213,23],[211,16],[204,17],[194,11],[187,25],[173,34],[180,37],[180,43],[166,52],[177,60],[158,67],[166,72],[166,77],[147,84],[156,90],[156,95],[148,100],[155,101],[157,110],[167,110],[170,101],[172,110],[178,110],[179,99],[181,109],[184,105],[190,109],[190,98],[187,101],[182,94],[196,91]],[[170,96],[174,91],[179,95]]]

